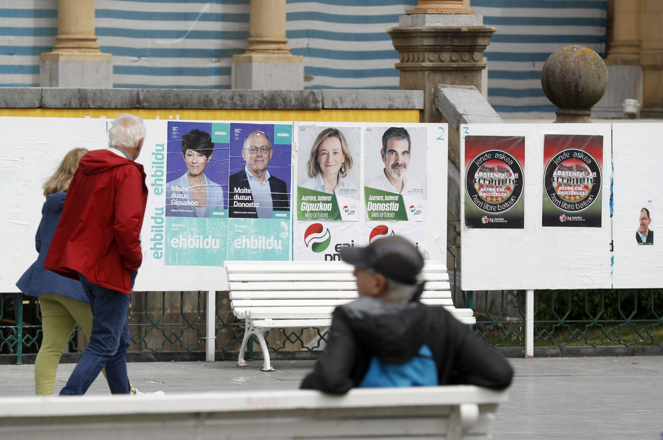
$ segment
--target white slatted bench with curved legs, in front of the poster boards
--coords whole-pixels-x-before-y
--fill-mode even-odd
[[[357,298],[353,266],[345,262],[226,261],[230,305],[238,319],[246,320],[237,365],[245,366],[244,352],[252,335],[258,339],[272,370],[264,333],[283,327],[329,327],[337,305]],[[456,309],[446,266],[426,261],[422,270],[426,288],[421,301],[446,307],[463,323],[473,324],[471,309]]]

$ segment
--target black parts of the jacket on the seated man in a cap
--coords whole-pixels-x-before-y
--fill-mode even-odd
[[[336,307],[328,345],[302,388],[343,394],[361,383],[373,356],[387,364],[410,360],[428,345],[440,385],[506,388],[513,370],[444,307],[362,297]]]

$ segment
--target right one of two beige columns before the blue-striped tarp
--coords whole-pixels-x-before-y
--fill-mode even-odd
[[[304,89],[304,57],[286,38],[286,0],[251,0],[249,45],[233,55],[233,89]]]

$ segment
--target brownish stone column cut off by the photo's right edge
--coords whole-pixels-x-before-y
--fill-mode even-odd
[[[640,9],[642,117],[663,117],[663,1],[644,0]]]

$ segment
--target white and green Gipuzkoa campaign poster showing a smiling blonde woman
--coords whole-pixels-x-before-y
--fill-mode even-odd
[[[297,127],[297,218],[359,221],[360,127]]]

